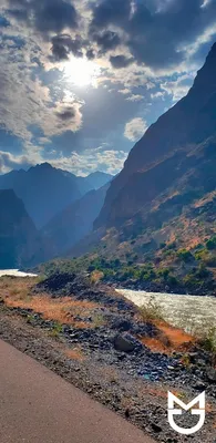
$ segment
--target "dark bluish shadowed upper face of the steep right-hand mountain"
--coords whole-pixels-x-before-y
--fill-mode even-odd
[[[188,94],[162,115],[131,151],[123,171],[111,184],[94,227],[120,226],[192,168],[195,174],[197,163],[206,164],[215,150],[215,135],[216,43]]]

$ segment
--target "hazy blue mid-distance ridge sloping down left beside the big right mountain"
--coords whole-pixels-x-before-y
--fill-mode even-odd
[[[93,222],[100,214],[110,184],[106,184],[100,189],[90,190],[53,217],[42,229],[42,235],[55,244],[58,255],[72,248],[92,230]]]

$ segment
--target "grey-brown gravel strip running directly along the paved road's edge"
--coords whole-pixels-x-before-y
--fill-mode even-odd
[[[173,432],[167,423],[168,390],[181,393],[184,400],[191,400],[198,394],[197,389],[191,387],[191,375],[189,383],[186,379],[181,382],[181,379],[177,380],[173,375],[166,381],[145,380],[142,374],[138,375],[131,369],[133,361],[131,364],[128,356],[123,360],[121,357],[120,360],[111,359],[109,362],[101,357],[101,351],[95,349],[92,349],[92,352],[88,350],[81,361],[69,359],[66,350],[78,342],[69,343],[64,336],[51,338],[51,326],[50,329],[48,324],[47,328],[41,328],[40,321],[38,324],[37,321],[31,324],[31,321],[23,312],[8,309],[1,303],[0,338],[125,416],[160,442],[187,442],[193,439],[196,443],[215,442],[216,403],[213,392],[209,392],[208,398],[210,412],[207,413],[205,426],[199,433],[191,437],[181,436]],[[107,350],[105,353],[109,354]],[[116,351],[114,353],[122,354]],[[197,383],[197,380],[194,379],[194,382]],[[184,419],[182,423],[184,426],[192,426],[192,416]]]

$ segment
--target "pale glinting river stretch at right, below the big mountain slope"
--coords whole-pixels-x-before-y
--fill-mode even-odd
[[[210,326],[216,327],[215,297],[155,293],[128,289],[119,289],[117,291],[138,307],[153,301],[161,308],[165,320],[188,332],[193,333],[200,328],[209,329]]]

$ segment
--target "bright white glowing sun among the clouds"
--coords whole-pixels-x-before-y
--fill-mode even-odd
[[[100,66],[88,59],[72,58],[63,68],[66,81],[75,84],[76,86],[96,86],[96,80],[100,75]]]

